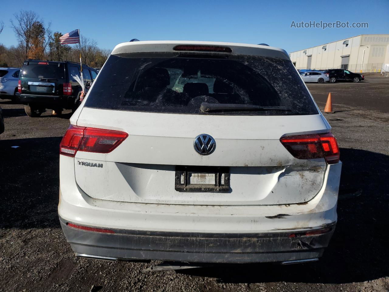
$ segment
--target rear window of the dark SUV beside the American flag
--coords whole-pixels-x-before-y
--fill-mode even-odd
[[[20,77],[65,79],[64,68],[62,63],[44,65],[30,62],[28,65],[23,65]]]

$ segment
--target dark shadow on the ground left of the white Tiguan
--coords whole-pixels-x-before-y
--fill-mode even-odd
[[[0,140],[0,228],[60,226],[56,208],[61,139]]]

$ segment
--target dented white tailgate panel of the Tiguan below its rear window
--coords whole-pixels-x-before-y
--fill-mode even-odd
[[[294,134],[297,128],[299,134],[328,132],[320,114],[282,118],[200,116],[85,108],[77,125],[129,134],[112,153],[77,152],[77,184],[95,199],[158,204],[294,204],[309,201],[323,186],[324,158],[294,158],[279,140]],[[217,151],[212,155],[193,151],[199,129],[214,137]],[[85,167],[80,161],[104,163],[104,167]],[[227,193],[176,192],[176,165],[230,167],[231,188]]]

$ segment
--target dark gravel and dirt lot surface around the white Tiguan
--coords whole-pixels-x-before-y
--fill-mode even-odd
[[[74,257],[60,229],[58,144],[69,125],[0,100],[0,291],[389,291],[389,78],[308,84],[326,114],[343,162],[338,225],[319,262],[218,265],[145,272],[152,262]],[[19,146],[19,148],[11,148]]]

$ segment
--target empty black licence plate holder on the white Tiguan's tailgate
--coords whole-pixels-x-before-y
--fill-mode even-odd
[[[175,190],[178,192],[228,192],[230,169],[216,166],[175,167]]]

